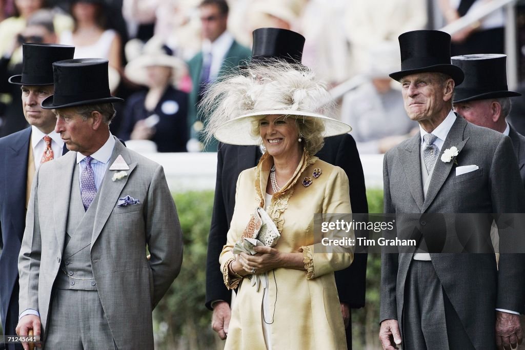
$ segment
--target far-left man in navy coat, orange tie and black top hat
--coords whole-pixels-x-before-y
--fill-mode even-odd
[[[21,90],[22,109],[30,127],[0,139],[0,316],[6,335],[15,335],[18,323],[17,260],[33,175],[41,163],[67,151],[54,132],[55,114],[40,103],[53,94],[52,63],[73,58],[74,52],[71,46],[24,44],[22,75],[9,78]],[[7,348],[22,346],[8,344]]]

